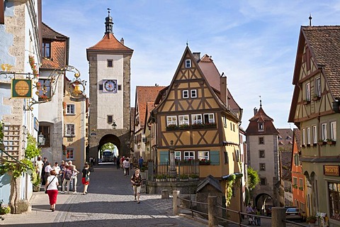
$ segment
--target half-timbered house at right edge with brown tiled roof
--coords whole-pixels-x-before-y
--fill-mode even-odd
[[[329,226],[340,226],[339,63],[340,26],[301,27],[288,121],[301,132],[306,209],[327,214]]]

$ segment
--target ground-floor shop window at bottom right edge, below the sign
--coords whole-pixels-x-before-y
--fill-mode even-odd
[[[328,182],[329,213],[331,218],[339,220],[340,214],[340,183]]]

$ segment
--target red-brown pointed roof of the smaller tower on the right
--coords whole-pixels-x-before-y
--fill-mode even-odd
[[[259,111],[249,120],[249,126],[246,128],[246,135],[278,135],[273,119],[270,118],[260,107]],[[263,131],[259,132],[258,123],[263,122]]]

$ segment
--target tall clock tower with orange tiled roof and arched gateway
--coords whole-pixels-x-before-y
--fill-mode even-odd
[[[130,62],[133,50],[113,35],[113,19],[105,21],[103,38],[86,49],[89,61],[89,157],[113,143],[119,155],[130,156]]]

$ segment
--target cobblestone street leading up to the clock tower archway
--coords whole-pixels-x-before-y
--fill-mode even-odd
[[[130,173],[131,174],[131,173]],[[131,175],[130,175],[131,176]],[[115,165],[97,165],[90,176],[89,194],[59,194],[56,211],[49,210],[47,194],[35,192],[32,211],[7,214],[1,226],[207,226],[172,214],[172,199],[159,194],[142,194],[134,201],[130,176]],[[80,176],[78,182],[81,182]]]

